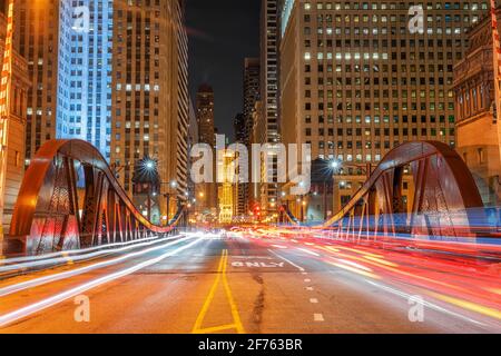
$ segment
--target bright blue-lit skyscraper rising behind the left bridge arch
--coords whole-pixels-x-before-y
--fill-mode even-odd
[[[59,55],[56,137],[91,142],[107,160],[111,142],[114,2],[118,4],[119,0],[61,1],[60,11],[67,14],[59,27],[65,46]]]

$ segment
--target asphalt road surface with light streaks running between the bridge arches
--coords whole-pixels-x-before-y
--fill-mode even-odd
[[[310,245],[198,234],[68,258],[0,281],[0,333],[501,332],[495,317],[415,299],[421,289],[336,266]]]

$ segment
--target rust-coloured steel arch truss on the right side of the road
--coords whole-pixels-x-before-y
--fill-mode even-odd
[[[410,204],[403,200],[405,172],[414,188]],[[292,225],[301,225],[285,210]],[[399,233],[464,237],[482,229],[484,220],[479,189],[461,157],[445,144],[419,141],[391,150],[346,206],[315,228],[358,238]]]

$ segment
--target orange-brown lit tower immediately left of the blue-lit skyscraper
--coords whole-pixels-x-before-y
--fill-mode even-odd
[[[60,6],[67,10],[59,11]],[[13,47],[28,61],[31,82],[27,103],[27,164],[41,145],[56,138],[59,57],[65,52],[60,50],[59,29],[70,23],[68,17],[68,2],[16,2]],[[68,48],[70,43],[65,46]]]

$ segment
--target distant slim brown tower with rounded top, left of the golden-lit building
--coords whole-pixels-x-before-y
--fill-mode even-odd
[[[196,98],[196,115],[198,123],[198,142],[216,147],[216,130],[214,128],[214,90],[204,83],[198,88]],[[200,184],[197,187],[197,201],[200,212],[217,215],[216,156],[214,155],[213,182]]]

